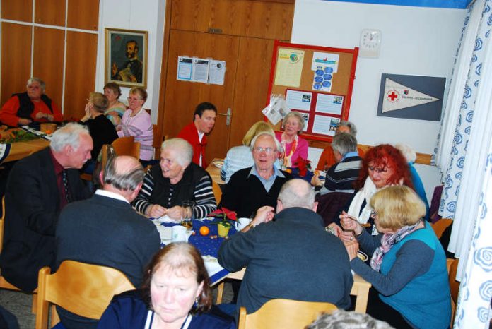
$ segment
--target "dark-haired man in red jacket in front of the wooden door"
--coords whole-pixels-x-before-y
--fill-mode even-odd
[[[193,114],[193,122],[182,128],[177,135],[193,146],[193,162],[202,168],[208,165],[205,157],[206,135],[208,135],[217,116],[217,108],[209,102],[202,102],[197,105]]]

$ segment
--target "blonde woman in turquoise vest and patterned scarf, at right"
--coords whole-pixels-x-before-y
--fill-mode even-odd
[[[379,298],[370,296],[367,313],[395,328],[448,328],[446,256],[433,229],[422,220],[426,206],[407,186],[378,191],[370,205],[377,236],[341,215],[342,227],[356,234],[356,239],[346,242],[351,268],[379,292]],[[359,244],[373,255],[370,266],[357,257]]]

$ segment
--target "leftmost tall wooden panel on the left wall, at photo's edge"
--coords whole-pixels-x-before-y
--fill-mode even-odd
[[[32,28],[28,25],[1,23],[0,104],[14,92],[24,92],[30,78]]]

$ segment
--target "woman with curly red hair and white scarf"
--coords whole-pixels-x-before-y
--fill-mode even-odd
[[[406,185],[414,188],[411,183],[409,165],[406,158],[397,148],[389,144],[377,145],[365,153],[359,178],[356,183],[358,192],[353,197],[348,210],[342,211],[340,218],[351,217],[368,228],[372,234],[377,234],[370,214],[370,198],[374,193],[386,186]],[[329,226],[340,239],[353,241],[353,232],[344,232],[339,227],[339,221]]]

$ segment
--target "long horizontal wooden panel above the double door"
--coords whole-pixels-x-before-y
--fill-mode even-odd
[[[173,0],[171,28],[289,40],[293,12],[294,4],[276,1]]]

